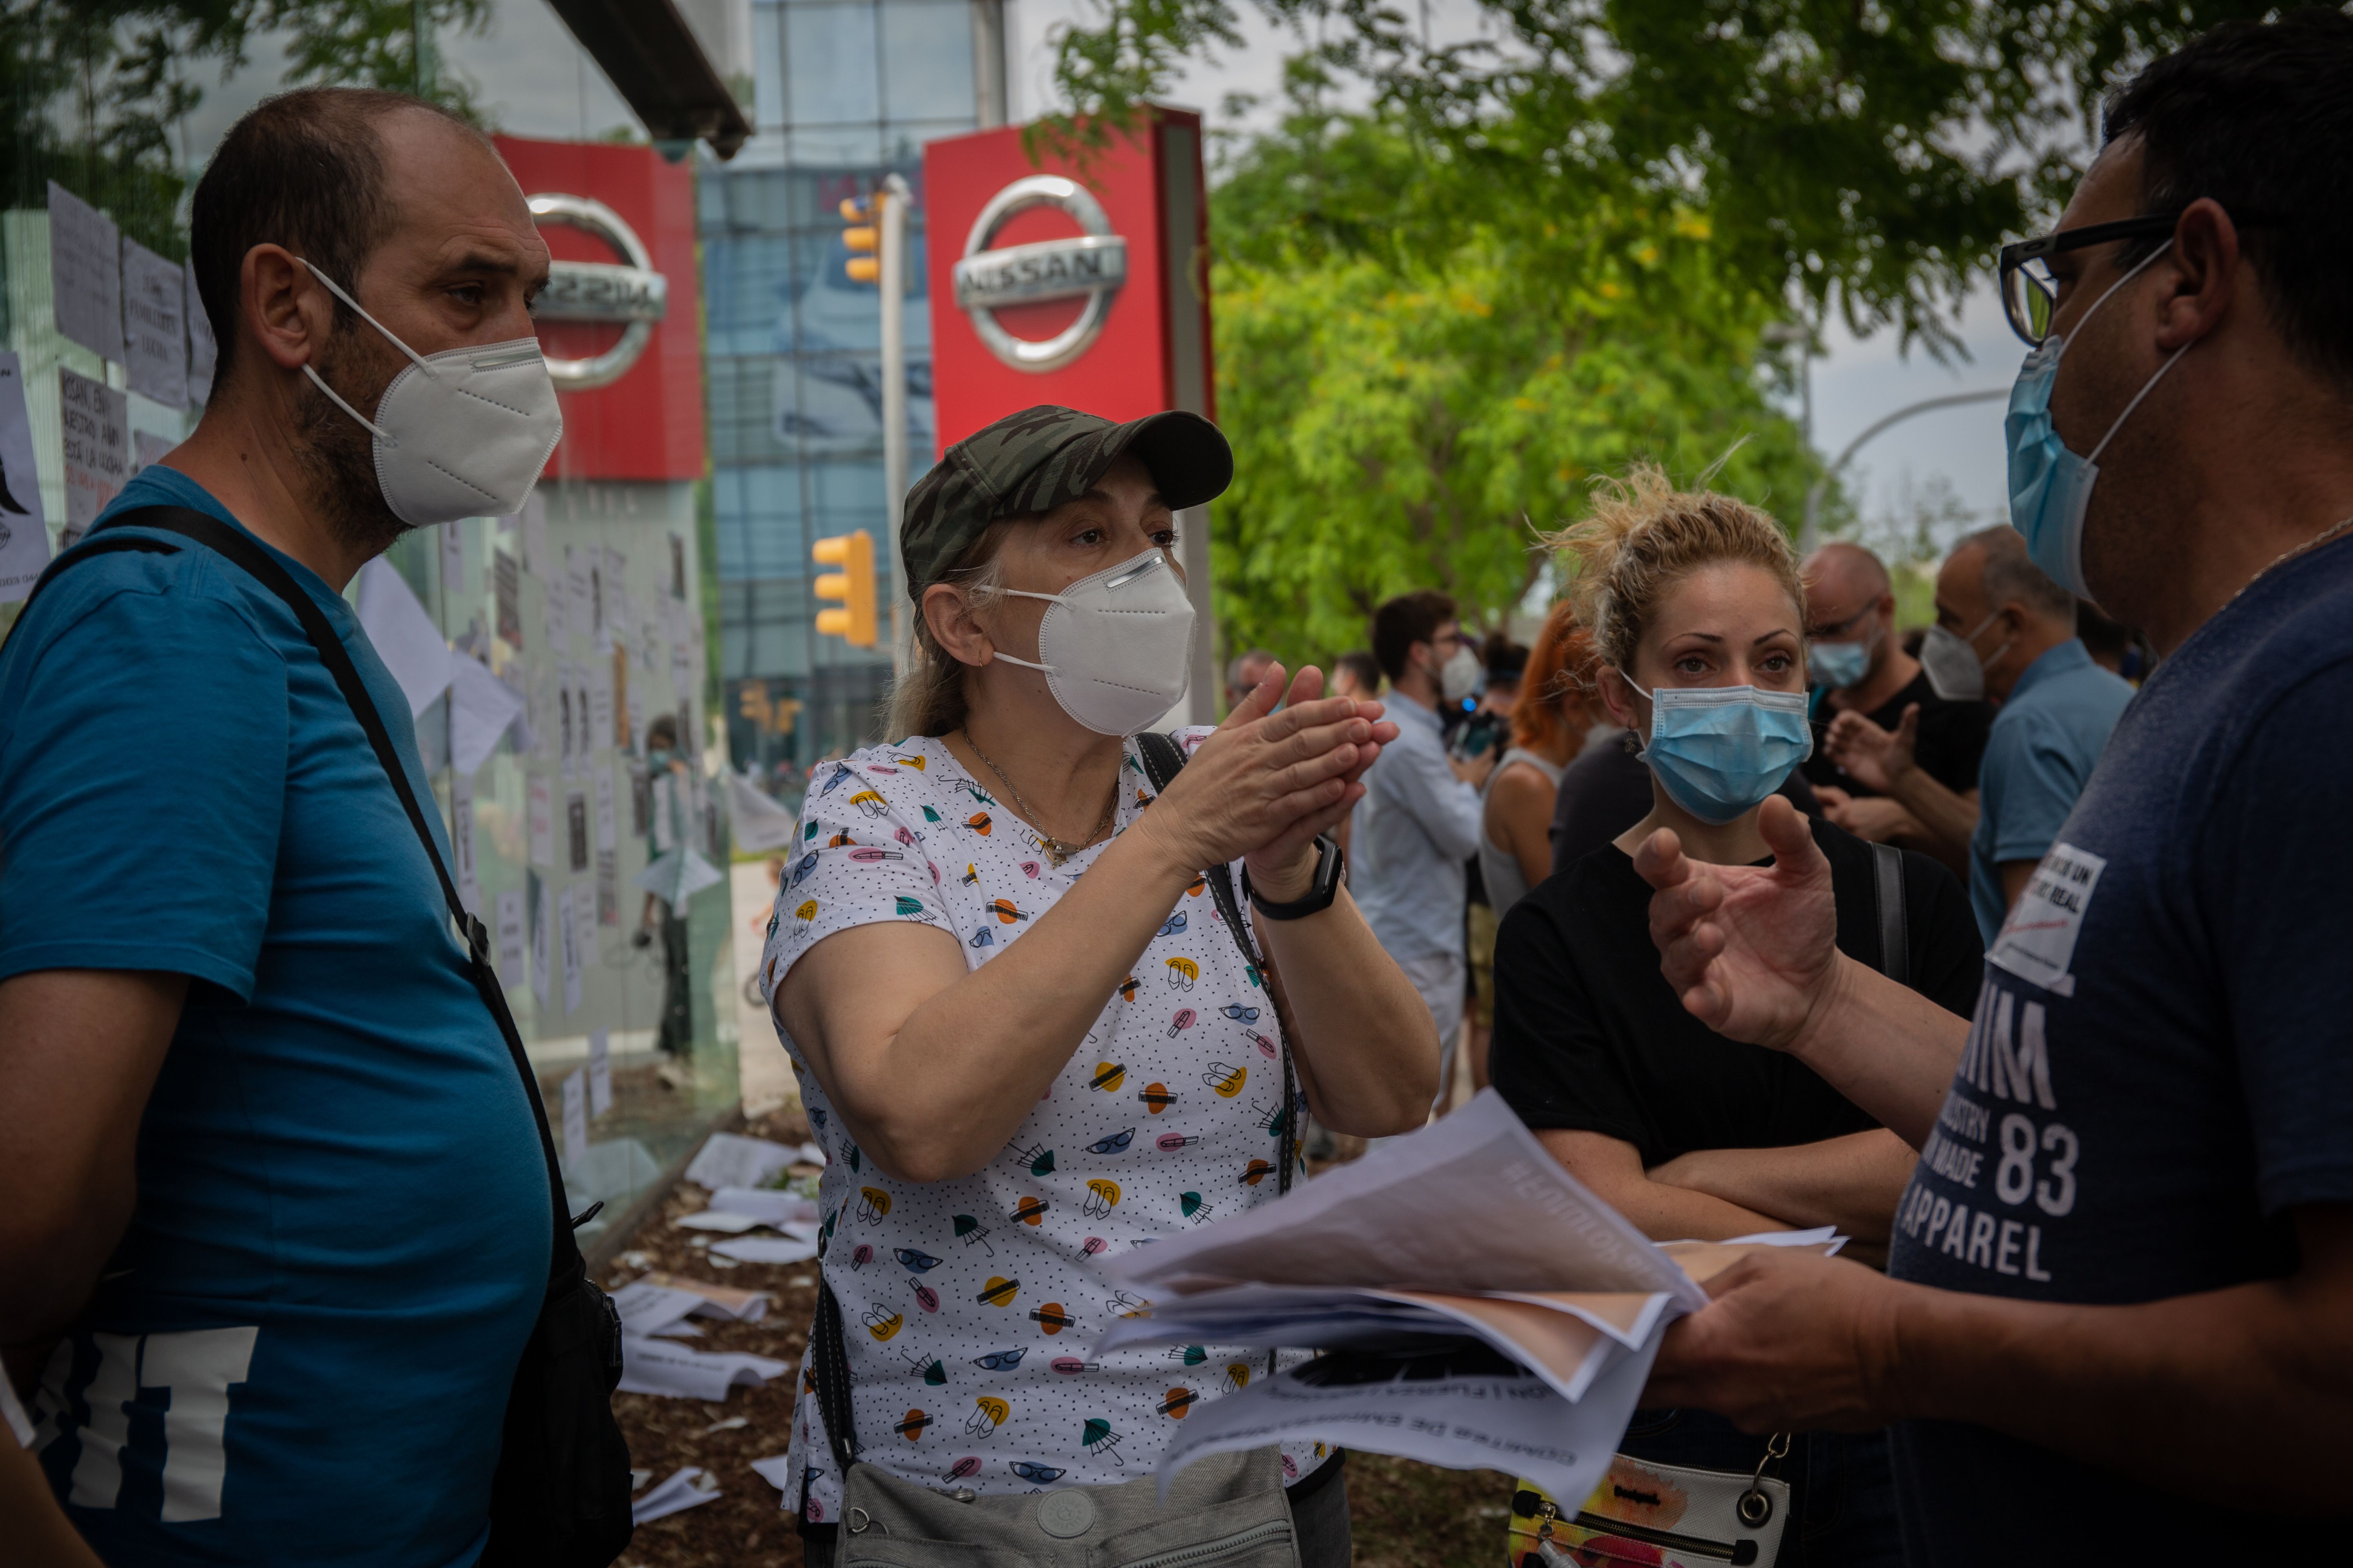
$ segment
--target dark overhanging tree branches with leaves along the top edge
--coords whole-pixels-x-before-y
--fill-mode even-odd
[[[1099,0],[1056,38],[1068,136],[1101,139],[1181,61],[1240,47],[1245,0]],[[1725,266],[1868,334],[1944,313],[2047,219],[2120,68],[2249,0],[1485,0],[1492,42],[1426,49],[1379,0],[1247,0],[1398,115],[1461,200],[1591,190],[1708,216]]]

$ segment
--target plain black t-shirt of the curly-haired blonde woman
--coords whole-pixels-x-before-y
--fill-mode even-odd
[[[1838,947],[1878,966],[1871,846],[1821,818],[1814,842],[1831,858]],[[1659,973],[1649,896],[1626,851],[1605,844],[1504,917],[1487,1070],[1520,1119],[1624,1138],[1645,1166],[1875,1126],[1798,1058],[1725,1039],[1685,1011]],[[1913,987],[1967,1016],[1984,950],[1960,882],[1906,851],[1904,914]]]

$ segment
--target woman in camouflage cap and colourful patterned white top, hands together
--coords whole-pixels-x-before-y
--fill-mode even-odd
[[[1304,1107],[1402,1133],[1438,1088],[1327,837],[1398,733],[1381,705],[1275,665],[1219,729],[1155,733],[1193,663],[1174,515],[1231,477],[1193,414],[1038,407],[908,494],[901,741],[812,780],[762,957],[833,1152],[793,1432],[812,1563],[835,1528],[1125,1563],[1139,1521],[1134,1556],[1287,1566],[1292,1523],[1299,1563],[1348,1561],[1320,1443],[1202,1460],[1155,1512],[1176,1422],[1264,1352],[1085,1359],[1141,1305],[1096,1255],[1273,1201]],[[920,1523],[941,1493],[972,1507]]]

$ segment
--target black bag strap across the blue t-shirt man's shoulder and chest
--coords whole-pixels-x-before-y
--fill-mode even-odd
[[[287,609],[294,611],[294,618],[301,623],[304,635],[311,639],[311,646],[318,649],[320,663],[327,665],[336,689],[351,705],[351,717],[355,717],[360,729],[367,731],[367,743],[374,748],[376,762],[384,764],[384,776],[393,783],[393,795],[400,797],[400,809],[407,813],[409,827],[416,830],[416,842],[424,844],[426,860],[433,863],[433,875],[442,884],[442,898],[449,903],[449,919],[456,922],[456,929],[466,940],[473,987],[482,994],[482,1004],[499,1023],[499,1034],[506,1037],[506,1053],[515,1060],[515,1072],[522,1077],[522,1098],[532,1103],[532,1119],[539,1124],[539,1152],[548,1161],[548,1194],[555,1211],[555,1251],[548,1258],[548,1279],[560,1281],[579,1274],[579,1244],[572,1237],[574,1220],[569,1218],[565,1204],[565,1175],[562,1164],[555,1159],[555,1138],[548,1131],[548,1107],[539,1098],[539,1079],[532,1074],[532,1058],[522,1048],[522,1034],[515,1030],[515,1016],[506,1006],[506,987],[499,985],[499,971],[489,961],[489,931],[480,919],[466,912],[466,905],[456,896],[449,867],[442,865],[440,846],[433,844],[433,830],[426,825],[424,806],[409,788],[409,773],[400,766],[400,752],[393,748],[391,731],[384,729],[384,715],[376,712],[376,701],[367,693],[367,682],[360,679],[358,665],[351,663],[351,649],[346,649],[344,639],[334,632],[334,625],[327,621],[327,611],[322,611],[318,602],[304,592],[301,583],[294,581],[294,574],[280,567],[261,543],[256,543],[249,534],[228,527],[219,517],[186,505],[144,505],[108,517],[104,524],[92,529],[80,545],[49,562],[47,571],[40,574],[40,581],[33,583],[33,592],[40,592],[42,585],[47,585],[47,581],[66,567],[89,559],[92,555],[104,555],[108,550],[172,550],[172,545],[151,538],[108,538],[108,531],[113,529],[155,529],[162,534],[179,534],[181,538],[191,538],[226,557],[233,567],[242,569],[256,583],[285,599]],[[588,1213],[595,1211],[591,1208]],[[588,1215],[581,1215],[581,1220],[586,1218]]]

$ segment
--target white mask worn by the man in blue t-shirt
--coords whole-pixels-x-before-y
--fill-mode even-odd
[[[304,266],[329,294],[360,310],[360,301],[332,277],[308,261]],[[393,517],[431,529],[459,517],[520,512],[565,433],[539,339],[419,355],[367,310],[360,320],[412,360],[384,388],[374,418],[336,397],[315,369],[301,369],[334,407],[376,437],[376,489]]]

